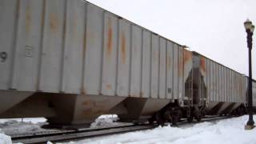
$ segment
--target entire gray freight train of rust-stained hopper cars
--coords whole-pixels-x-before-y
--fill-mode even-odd
[[[0,118],[162,124],[247,104],[245,75],[82,0],[1,0],[0,67]]]

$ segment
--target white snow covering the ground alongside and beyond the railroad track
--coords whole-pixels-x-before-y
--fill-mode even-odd
[[[112,116],[100,117],[93,126],[115,125],[113,118],[114,117]],[[248,115],[239,118],[224,119],[218,122],[202,122],[178,127],[159,126],[154,130],[142,130],[126,134],[114,134],[111,136],[84,139],[78,142],[67,142],[65,144],[255,144],[256,128],[254,128],[254,130],[244,130],[247,119]],[[254,120],[256,120],[256,115],[254,115]],[[8,124],[8,121],[6,122]],[[6,124],[6,122],[0,121],[0,124],[3,125]],[[31,122],[34,123],[33,120]],[[27,126],[28,122],[23,122],[23,124],[20,125]],[[2,131],[0,131],[0,143],[11,143],[10,137],[3,134]],[[48,144],[50,143],[51,142],[48,142]]]

